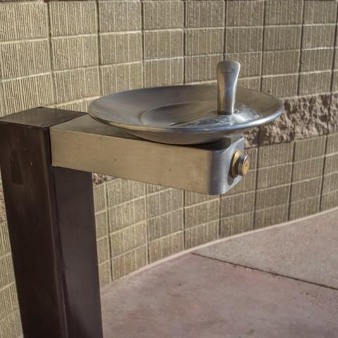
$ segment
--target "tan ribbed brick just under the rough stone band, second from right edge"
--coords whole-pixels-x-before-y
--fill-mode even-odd
[[[325,154],[326,136],[294,142],[294,161],[305,161]]]

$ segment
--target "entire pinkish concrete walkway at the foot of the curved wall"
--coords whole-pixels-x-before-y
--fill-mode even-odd
[[[337,338],[338,209],[218,241],[102,292],[105,338]]]

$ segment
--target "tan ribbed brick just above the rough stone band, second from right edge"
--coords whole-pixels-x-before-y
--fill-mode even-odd
[[[300,95],[330,92],[330,70],[322,73],[301,73],[299,77]]]

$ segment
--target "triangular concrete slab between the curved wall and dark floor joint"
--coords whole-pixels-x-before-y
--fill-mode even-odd
[[[338,289],[338,208],[194,250],[206,258]]]

